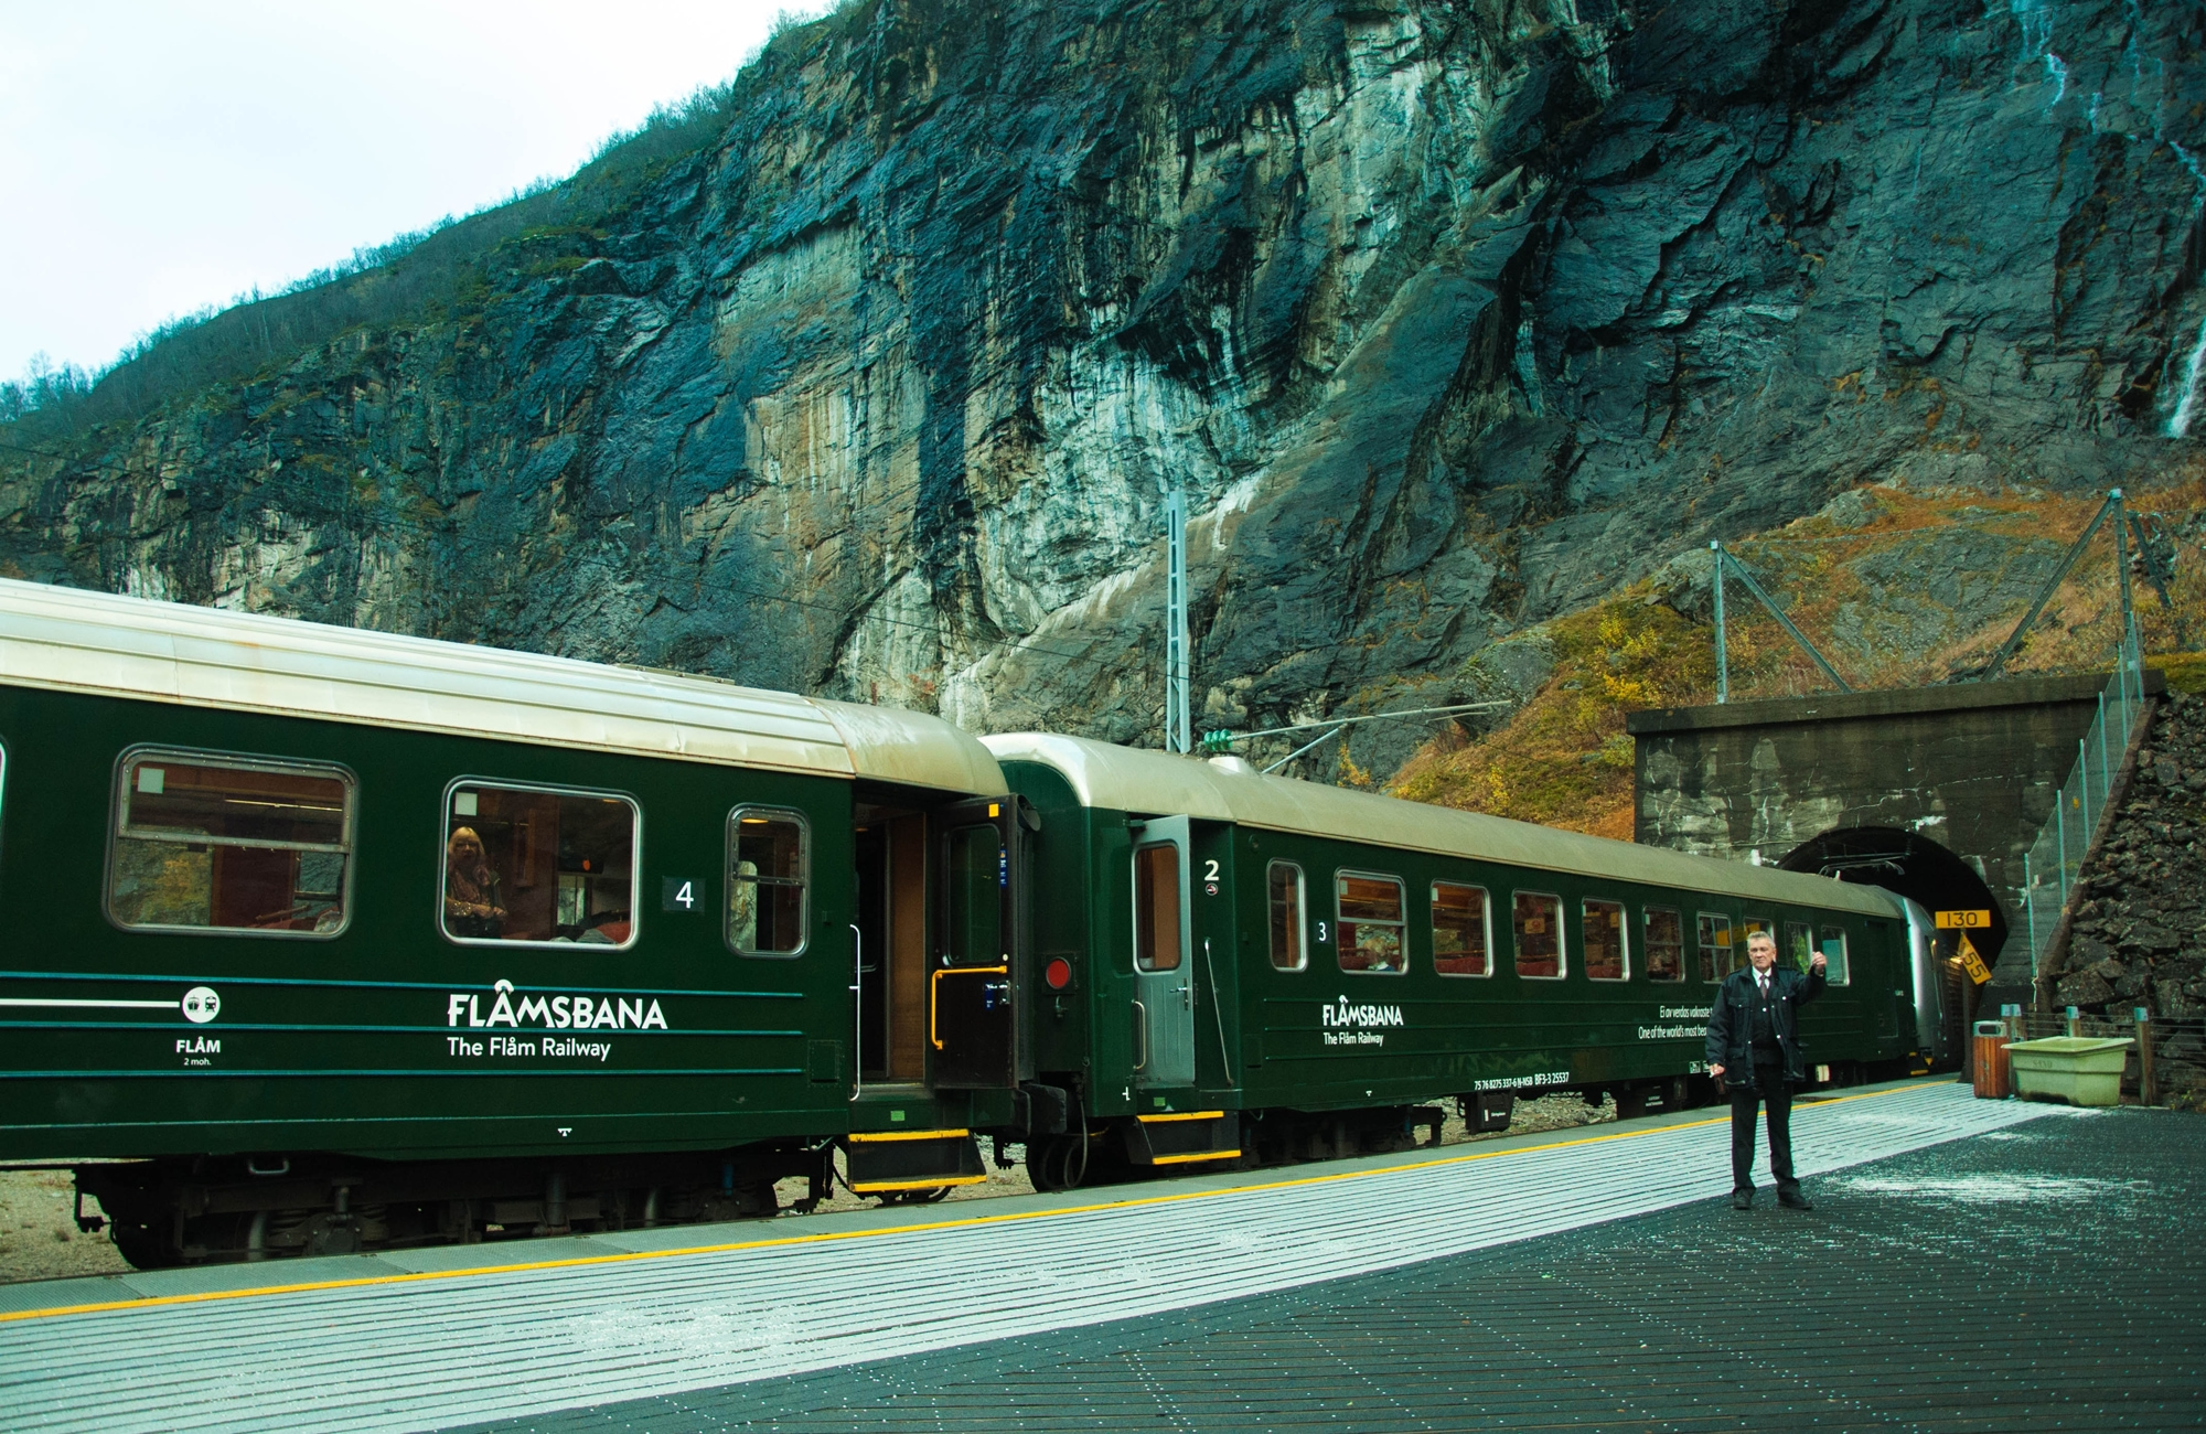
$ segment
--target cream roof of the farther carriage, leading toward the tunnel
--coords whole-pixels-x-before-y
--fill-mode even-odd
[[[982,737],[997,761],[1035,761],[1072,783],[1081,805],[1231,821],[1268,832],[1339,836],[1381,847],[1467,856],[1577,876],[1654,887],[1692,887],[1745,900],[1791,902],[1899,916],[1899,902],[1875,889],[1802,876],[1776,867],[1688,856],[1606,836],[1582,836],[1522,821],[1456,812],[1374,792],[1328,788],[1293,777],[1264,777],[1238,757],[1174,757],[1081,737],[1013,732]]]

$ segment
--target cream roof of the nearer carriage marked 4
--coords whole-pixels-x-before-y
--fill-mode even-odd
[[[0,684],[1006,792],[922,713],[42,582],[0,580]]]

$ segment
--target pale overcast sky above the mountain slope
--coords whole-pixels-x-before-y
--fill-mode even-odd
[[[796,0],[0,0],[0,379],[563,176]]]

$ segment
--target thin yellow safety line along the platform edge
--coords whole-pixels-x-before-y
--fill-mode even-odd
[[[1875,1101],[1882,1096],[1908,1094],[1913,1090],[1928,1090],[1930,1085],[1950,1085],[1952,1081],[1919,1081],[1915,1085],[1902,1085],[1897,1090],[1864,1090],[1851,1096],[1831,1096],[1827,1101],[1816,1101],[1816,1105],[1844,1105],[1846,1101]],[[1469,1152],[1460,1156],[1438,1156],[1432,1160],[1410,1160],[1407,1165],[1381,1165],[1377,1169],[1343,1169],[1326,1176],[1297,1176],[1293,1180],[1260,1180],[1255,1185],[1229,1185],[1224,1189],[1189,1189],[1171,1196],[1138,1196],[1129,1200],[1099,1200],[1094,1205],[1068,1205],[1063,1209],[1032,1209],[1013,1211],[1008,1216],[966,1216],[964,1220],[920,1220],[915,1224],[887,1224],[880,1229],[849,1229],[849,1231],[821,1231],[816,1235],[781,1235],[777,1240],[730,1240],[728,1244],[686,1244],[677,1249],[657,1251],[624,1251],[618,1255],[576,1255],[571,1260],[532,1260],[525,1264],[479,1264],[457,1271],[415,1271],[408,1275],[360,1275],[357,1280],[309,1280],[300,1284],[260,1284],[243,1291],[201,1291],[192,1295],[143,1295],[139,1299],[101,1299],[95,1304],[57,1304],[42,1310],[0,1310],[0,1324],[15,1324],[22,1319],[57,1319],[62,1315],[99,1315],[108,1310],[150,1310],[170,1304],[214,1304],[218,1299],[260,1299],[265,1295],[309,1295],[318,1291],[351,1291],[386,1284],[424,1284],[430,1280],[470,1280],[483,1275],[521,1275],[532,1271],[558,1271],[558,1269],[582,1269],[593,1264],[635,1264],[642,1260],[673,1260],[677,1255],[726,1255],[746,1249],[779,1249],[788,1244],[832,1244],[838,1240],[876,1240],[880,1235],[915,1235],[938,1229],[973,1229],[979,1224],[1019,1224],[1028,1220],[1057,1220],[1063,1216],[1092,1216],[1105,1209],[1134,1209],[1143,1205],[1180,1205],[1187,1200],[1216,1200],[1220,1196],[1249,1196],[1266,1189],[1297,1189],[1304,1185],[1335,1185],[1339,1180],[1366,1180],[1372,1176],[1399,1176],[1412,1169],[1434,1169],[1441,1165],[1469,1165],[1474,1160],[1498,1160],[1504,1156],[1529,1156],[1544,1149],[1568,1149],[1573,1145],[1604,1145],[1608,1141],[1637,1141],[1641,1136],[1659,1136],[1672,1130],[1699,1130],[1703,1125],[1725,1125],[1730,1123],[1730,1112],[1712,1116],[1705,1121],[1681,1121],[1677,1125],[1650,1125],[1646,1130],[1615,1130],[1604,1136],[1577,1136],[1575,1141],[1549,1141],[1544,1145],[1518,1145],[1513,1149],[1487,1149]],[[940,1185],[940,1182],[938,1182]]]

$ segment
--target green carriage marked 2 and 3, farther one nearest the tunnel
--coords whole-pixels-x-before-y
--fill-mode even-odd
[[[1921,1063],[1919,913],[1873,887],[1714,863],[1077,737],[986,737],[1048,832],[1035,927],[1046,1081],[1090,1141],[1037,1180],[1377,1149],[1463,1099],[1705,1099],[1716,982],[1769,931],[1829,991],[1824,1079]],[[1930,1026],[1935,1030],[1935,1026]],[[1101,1130],[1121,1138],[1096,1145]]]

